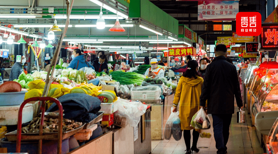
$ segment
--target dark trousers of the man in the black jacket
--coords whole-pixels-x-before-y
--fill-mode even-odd
[[[217,153],[225,153],[229,140],[229,129],[232,120],[232,114],[212,114],[213,132],[216,142]]]

